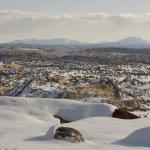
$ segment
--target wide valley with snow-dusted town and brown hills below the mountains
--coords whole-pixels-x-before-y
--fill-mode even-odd
[[[132,109],[149,107],[148,49],[65,51],[17,45],[3,47],[0,52],[1,95],[103,101]]]

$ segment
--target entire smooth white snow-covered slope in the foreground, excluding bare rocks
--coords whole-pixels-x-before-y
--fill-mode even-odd
[[[115,108],[65,99],[0,97],[0,149],[148,150],[150,120],[111,118]],[[60,124],[53,115],[74,122]],[[72,144],[54,140],[50,132],[53,126],[73,127],[86,141]]]

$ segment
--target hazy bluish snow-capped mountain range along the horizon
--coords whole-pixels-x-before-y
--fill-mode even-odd
[[[51,46],[69,46],[74,48],[78,47],[122,47],[122,48],[150,48],[150,43],[142,38],[138,37],[127,37],[116,42],[99,42],[99,43],[86,43],[75,40],[69,40],[64,38],[56,39],[27,39],[27,40],[16,40],[11,42],[13,44],[29,44],[29,45],[51,45]]]

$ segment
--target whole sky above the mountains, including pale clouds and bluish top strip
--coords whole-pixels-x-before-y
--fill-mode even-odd
[[[150,0],[0,0],[0,42],[64,37],[150,40]]]

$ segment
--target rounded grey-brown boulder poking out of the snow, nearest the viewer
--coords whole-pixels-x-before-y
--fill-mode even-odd
[[[81,133],[73,128],[59,127],[56,129],[54,138],[70,143],[81,143],[84,139]]]

